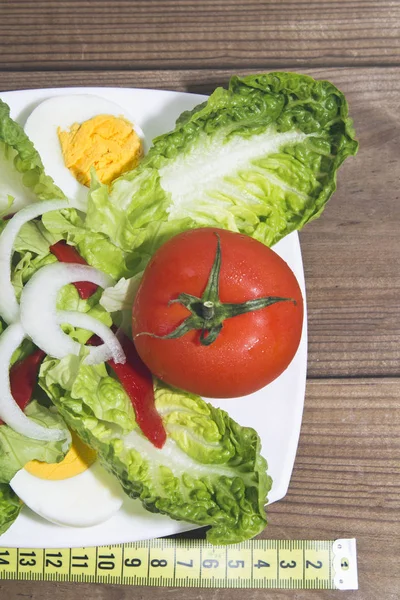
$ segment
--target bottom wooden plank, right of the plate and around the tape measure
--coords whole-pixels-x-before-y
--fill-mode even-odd
[[[398,598],[400,571],[400,380],[309,381],[299,450],[289,492],[269,507],[271,539],[356,537],[360,590],[354,600]],[[198,532],[191,532],[198,537]],[[0,597],[18,600],[63,598],[128,600],[132,588],[1,582]],[[263,590],[135,588],[134,597],[162,600],[262,600]],[[310,593],[297,591],[297,600]],[[315,592],[334,599],[337,592]],[[291,599],[293,592],[273,592]]]

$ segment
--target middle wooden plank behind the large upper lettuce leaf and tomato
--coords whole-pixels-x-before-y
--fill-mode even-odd
[[[293,69],[288,65],[287,70]],[[241,73],[252,71],[241,71]],[[400,68],[303,69],[338,85],[360,141],[324,214],[301,232],[310,377],[400,374]],[[128,86],[210,92],[233,71],[0,73],[0,89]]]

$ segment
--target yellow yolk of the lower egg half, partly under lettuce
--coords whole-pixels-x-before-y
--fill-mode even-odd
[[[96,460],[96,452],[86,446],[75,433],[72,433],[71,448],[60,463],[49,464],[31,460],[25,470],[40,479],[61,480],[83,473]]]

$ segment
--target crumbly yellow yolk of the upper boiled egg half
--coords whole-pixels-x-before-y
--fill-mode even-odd
[[[57,133],[66,167],[86,186],[90,186],[91,167],[108,185],[136,167],[143,155],[139,136],[123,117],[97,115],[82,124],[74,123],[69,131],[58,128]]]

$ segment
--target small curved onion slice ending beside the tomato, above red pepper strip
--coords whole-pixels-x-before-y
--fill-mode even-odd
[[[113,333],[107,325],[85,313],[70,310],[57,311],[58,323],[69,323],[73,327],[87,329],[99,336],[104,342],[100,346],[92,346],[89,355],[83,361],[87,365],[97,365],[113,359],[116,363],[124,363],[126,357],[122,350],[117,333]]]

